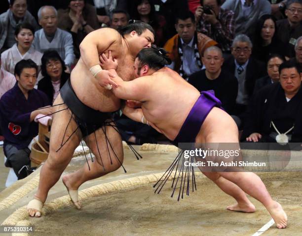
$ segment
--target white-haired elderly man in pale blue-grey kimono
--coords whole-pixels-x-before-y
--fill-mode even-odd
[[[41,53],[49,49],[57,51],[70,69],[75,60],[73,37],[57,27],[57,10],[53,6],[42,6],[38,11],[38,19],[43,29],[35,33],[35,49]]]

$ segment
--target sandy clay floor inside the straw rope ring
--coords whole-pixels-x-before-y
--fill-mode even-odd
[[[288,214],[287,229],[273,225],[262,236],[302,235],[302,173],[261,173],[272,197]],[[271,218],[251,199],[255,213],[231,212],[233,200],[205,177],[197,192],[177,202],[167,184],[157,195],[151,185],[105,194],[84,201],[81,210],[65,207],[38,219],[31,235],[43,236],[252,236]],[[169,182],[168,182],[169,183]]]

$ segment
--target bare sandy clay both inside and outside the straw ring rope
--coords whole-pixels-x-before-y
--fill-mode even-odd
[[[140,151],[144,158],[138,161],[129,149],[124,151],[127,174],[120,168],[84,183],[80,190],[115,180],[162,173],[176,155],[173,152]],[[64,174],[76,171],[83,164],[83,156],[73,158]],[[2,168],[0,174],[3,187],[7,168]],[[1,191],[0,201],[5,201],[38,174],[39,169],[37,173]],[[302,236],[302,172],[258,174],[273,199],[282,204],[289,218],[287,229],[278,230],[273,225],[261,236]],[[271,219],[265,208],[252,198],[251,201],[257,207],[255,213],[228,211],[226,207],[234,203],[231,197],[202,175],[196,177],[196,183],[197,192],[190,192],[190,196],[180,202],[170,198],[171,188],[168,183],[159,195],[154,194],[152,184],[147,184],[90,198],[82,202],[81,210],[64,207],[41,218],[25,219],[35,227],[35,232],[31,234],[33,236],[254,236]],[[3,222],[19,207],[26,206],[36,191],[37,187],[34,187],[24,197],[0,210],[0,221]],[[60,179],[50,190],[46,202],[66,194]]]

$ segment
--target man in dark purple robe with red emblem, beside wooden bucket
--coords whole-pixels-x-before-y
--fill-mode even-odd
[[[51,114],[52,108],[38,108],[50,105],[45,93],[34,89],[38,66],[31,59],[16,64],[17,83],[0,99],[1,129],[4,136],[5,166],[12,167],[18,179],[27,176],[30,165],[28,145],[38,134],[38,114]]]

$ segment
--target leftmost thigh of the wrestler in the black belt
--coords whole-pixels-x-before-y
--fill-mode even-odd
[[[54,101],[54,105],[61,103],[64,103],[64,101],[59,94]],[[55,107],[56,111],[59,112],[53,115],[50,131],[48,159],[49,161],[54,161],[57,164],[60,162],[69,162],[71,160],[74,150],[78,146],[81,139],[79,129],[72,135],[72,133],[76,130],[77,124],[74,118],[71,119],[71,111],[69,109],[63,110],[65,108],[67,108],[65,104]],[[67,141],[71,135],[72,137]],[[66,141],[67,143],[64,144]],[[62,146],[62,144],[64,145]]]

